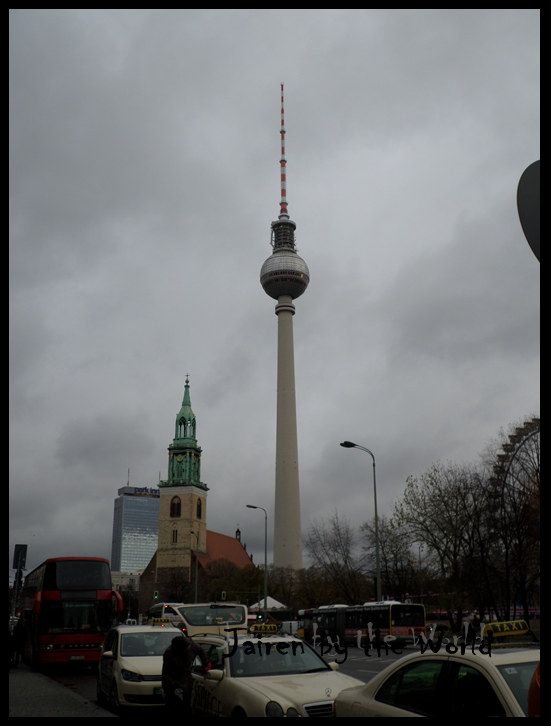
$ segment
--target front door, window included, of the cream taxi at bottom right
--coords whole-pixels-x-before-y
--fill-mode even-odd
[[[443,685],[448,671],[445,658],[422,658],[393,671],[372,700],[354,704],[354,715],[432,716],[446,713]]]

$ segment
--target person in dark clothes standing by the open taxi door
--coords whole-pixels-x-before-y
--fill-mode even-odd
[[[200,645],[186,635],[172,639],[163,655],[163,690],[165,692],[165,715],[191,716],[191,690],[193,678],[191,666],[199,656],[203,674],[207,671],[207,654]]]

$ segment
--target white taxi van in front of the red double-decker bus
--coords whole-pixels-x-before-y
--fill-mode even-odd
[[[168,619],[112,628],[98,667],[98,703],[115,713],[121,706],[162,705],[163,654],[178,635]]]

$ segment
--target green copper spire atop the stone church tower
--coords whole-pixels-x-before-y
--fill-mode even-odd
[[[160,487],[195,486],[208,491],[201,481],[201,451],[197,445],[197,420],[191,408],[189,376],[186,376],[184,400],[176,416],[174,441],[168,447],[168,479]]]

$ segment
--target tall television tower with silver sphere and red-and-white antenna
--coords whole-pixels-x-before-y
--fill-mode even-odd
[[[273,252],[262,265],[260,284],[277,300],[277,433],[274,511],[274,566],[302,568],[300,491],[298,481],[297,410],[295,397],[295,355],[293,348],[293,299],[300,297],[310,282],[310,272],[298,256],[296,224],[287,212],[285,119],[281,84],[281,201],[279,217],[272,222]]]

